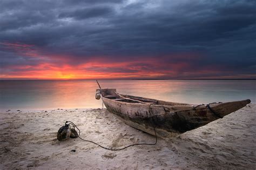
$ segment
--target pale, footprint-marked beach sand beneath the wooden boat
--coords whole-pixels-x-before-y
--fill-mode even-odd
[[[255,169],[256,105],[250,104],[206,126],[156,146],[108,151],[80,139],[57,140],[66,120],[80,137],[107,147],[154,142],[106,109],[2,112],[0,169]],[[75,151],[75,152],[74,152]]]

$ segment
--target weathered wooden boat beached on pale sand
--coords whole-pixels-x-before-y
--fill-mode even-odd
[[[168,138],[204,126],[245,107],[250,99],[227,103],[192,105],[119,94],[116,89],[98,89],[107,110],[124,123],[144,132]]]

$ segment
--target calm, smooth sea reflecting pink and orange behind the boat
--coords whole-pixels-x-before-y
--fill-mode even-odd
[[[99,80],[102,88],[166,101],[207,104],[251,99],[256,103],[256,80]],[[0,81],[0,107],[99,108],[98,89],[92,80]]]

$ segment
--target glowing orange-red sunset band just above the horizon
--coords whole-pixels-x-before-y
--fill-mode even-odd
[[[69,55],[45,54],[41,49],[27,44],[0,43],[0,47],[21,56],[21,60],[1,68],[0,79],[172,79],[252,76],[215,76],[220,73],[217,68],[191,64],[191,60],[200,60],[201,57],[189,53],[171,56],[171,61],[170,56],[123,60],[96,56],[89,59],[84,57],[86,60],[82,57],[79,60],[80,58]]]

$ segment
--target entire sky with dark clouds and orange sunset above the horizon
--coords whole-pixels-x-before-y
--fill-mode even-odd
[[[0,79],[255,79],[256,1],[0,1]]]

